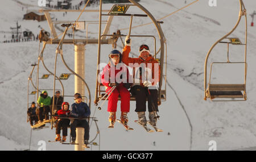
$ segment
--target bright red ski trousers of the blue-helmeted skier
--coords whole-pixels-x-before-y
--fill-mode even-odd
[[[106,92],[111,92],[111,87],[106,89]],[[110,90],[110,91],[109,91]],[[116,112],[117,111],[117,102],[118,96],[121,96],[121,112],[129,112],[130,111],[130,92],[124,86],[117,86],[113,92],[109,96],[108,102],[108,111]]]

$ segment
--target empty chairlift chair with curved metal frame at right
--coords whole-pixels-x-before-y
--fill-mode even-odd
[[[246,9],[243,4],[242,0],[240,1],[240,14],[236,23],[236,26],[233,28],[232,31],[230,31],[228,34],[226,34],[224,37],[222,37],[220,40],[218,40],[216,43],[212,45],[212,47],[209,49],[207,53],[207,57],[205,58],[205,67],[204,67],[204,99],[207,100],[207,98],[210,98],[212,101],[246,101],[247,95],[246,95],[246,74],[247,74],[247,63],[246,63],[246,49],[247,49],[247,18],[246,18]],[[236,30],[238,24],[240,23],[241,17],[245,16],[245,43],[242,43],[239,38],[228,38],[230,34],[234,30]],[[227,40],[227,41],[222,41]],[[209,83],[207,84],[207,62],[208,57],[210,53],[212,52],[212,49],[218,44],[218,43],[226,43],[227,44],[227,61],[226,62],[213,62],[210,65],[210,74],[209,74]],[[245,53],[244,61],[241,62],[232,62],[229,60],[229,44],[231,45],[244,45],[245,46]],[[213,64],[226,64],[226,65],[232,65],[232,64],[243,64],[244,70],[244,76],[243,76],[243,83],[242,84],[225,84],[225,83],[218,83],[218,84],[212,84],[211,83],[211,77],[212,77],[212,66]],[[233,70],[233,69],[232,69]],[[207,88],[208,86],[208,88]],[[218,98],[214,100],[215,98]],[[222,98],[222,99],[221,99]],[[238,99],[239,100],[238,100]]]

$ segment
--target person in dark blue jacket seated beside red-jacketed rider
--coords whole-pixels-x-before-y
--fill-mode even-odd
[[[84,118],[90,116],[90,108],[85,102],[82,102],[81,94],[76,93],[74,97],[76,102],[71,106],[70,115],[79,119],[74,119],[71,123],[72,143],[76,141],[76,127],[79,126],[84,127],[84,144],[87,145],[89,140],[89,124]]]

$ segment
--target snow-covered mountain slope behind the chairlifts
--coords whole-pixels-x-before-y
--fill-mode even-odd
[[[141,4],[151,12],[156,19],[160,19],[177,9],[191,3],[192,1],[180,0],[141,0]],[[30,30],[34,34],[39,34],[41,28],[50,31],[46,21],[37,22],[34,20],[23,20],[23,14],[27,10],[40,9],[37,3],[32,0],[13,0],[3,1],[0,11],[1,32],[1,68],[0,68],[0,141],[1,150],[22,150],[28,149],[30,145],[30,124],[27,123],[27,78],[31,72],[33,63],[37,63],[39,53],[39,42],[28,41],[21,43],[2,43],[10,37],[8,32],[10,27],[15,27],[16,21],[22,26],[22,30]],[[247,9],[248,19],[248,46],[247,46],[247,101],[246,102],[210,102],[204,101],[204,60],[212,44],[228,33],[235,25],[238,18],[238,1],[217,0],[217,7],[210,7],[207,0],[199,2],[163,19],[162,30],[167,39],[167,101],[162,102],[159,107],[160,121],[159,128],[164,132],[147,133],[141,126],[134,123],[137,114],[134,112],[135,103],[131,102],[129,124],[134,131],[125,131],[121,124],[116,123],[115,128],[108,128],[108,112],[106,105],[102,110],[91,107],[92,115],[98,118],[100,128],[100,149],[101,150],[208,150],[209,141],[217,142],[218,150],[237,149],[256,145],[256,70],[254,60],[256,27],[250,27],[251,17],[249,14],[256,9],[256,2],[247,0],[244,2]],[[30,5],[28,5],[30,4]],[[110,9],[111,4],[104,4],[103,9]],[[22,10],[23,9],[23,10]],[[88,9],[98,9],[90,6]],[[144,14],[136,7],[130,7],[128,13]],[[54,18],[58,20],[76,20],[80,13],[68,13],[63,17],[63,13],[54,13]],[[8,16],[7,16],[8,15]],[[80,20],[98,20],[98,13],[83,14]],[[106,17],[104,17],[106,20]],[[233,36],[241,38],[243,41],[243,21],[234,32]],[[151,22],[148,18],[133,19],[133,26]],[[116,16],[113,19],[110,33],[118,29],[129,27],[130,18]],[[40,26],[40,27],[39,27]],[[59,27],[60,30],[63,28]],[[57,34],[61,31],[57,30]],[[97,38],[98,25],[89,26],[90,38]],[[127,34],[128,30],[122,30],[122,34]],[[95,33],[95,34],[93,34]],[[132,35],[154,35],[158,34],[155,26],[133,28]],[[4,39],[3,36],[6,35]],[[77,32],[77,37],[85,38],[86,32]],[[138,47],[142,43],[154,47],[153,41],[146,38],[133,38],[131,52],[138,55]],[[122,47],[118,41],[118,47]],[[42,44],[40,44],[42,48]],[[242,47],[241,47],[242,48]],[[85,81],[90,87],[92,99],[94,99],[96,64],[97,64],[97,45],[85,46]],[[108,53],[112,49],[111,45],[102,45],[102,63],[108,63]],[[49,70],[54,70],[56,45],[46,45],[44,50],[44,62]],[[121,48],[119,48],[121,50]],[[64,59],[69,67],[74,67],[74,47],[73,45],[63,45]],[[153,50],[151,50],[153,51]],[[230,51],[230,59],[243,59],[243,49],[237,47]],[[221,55],[223,53],[223,55]],[[226,47],[214,49],[210,61],[226,61]],[[241,60],[242,61],[242,60]],[[57,61],[57,75],[69,73],[61,63],[60,57]],[[217,69],[218,70],[218,69]],[[36,69],[35,69],[36,71]],[[40,64],[40,74],[48,73]],[[230,72],[236,74],[238,79],[243,78],[243,73],[237,70]],[[222,74],[225,76],[225,74]],[[36,72],[33,74],[33,81],[36,82]],[[216,76],[217,77],[217,76]],[[220,77],[220,76],[218,76]],[[65,95],[73,95],[74,81],[73,76],[67,81],[63,81]],[[53,77],[48,80],[40,80],[40,89],[52,89]],[[56,88],[60,89],[59,82],[56,81]],[[32,87],[30,86],[30,90]],[[52,91],[48,91],[52,96]],[[73,98],[65,98],[69,103]],[[30,102],[34,101],[34,96],[30,95]],[[118,105],[119,108],[119,105]],[[120,111],[118,109],[117,117]],[[168,135],[170,132],[170,135]],[[90,128],[90,140],[96,135],[96,126],[92,123]],[[32,131],[31,149],[38,149],[40,140],[46,141],[47,150],[73,150],[73,146],[65,146],[59,143],[48,143],[48,140],[55,138],[55,130],[45,128],[39,131]],[[96,140],[98,143],[98,140]],[[127,144],[128,143],[128,144]],[[98,150],[93,146],[92,150]]]

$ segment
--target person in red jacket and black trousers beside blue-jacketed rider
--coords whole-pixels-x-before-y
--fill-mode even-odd
[[[63,102],[62,103],[62,109],[57,111],[57,122],[56,122],[56,141],[61,141],[61,137],[60,137],[60,129],[62,127],[62,142],[65,142],[67,140],[67,135],[68,135],[68,126],[70,123],[70,120],[67,119],[69,117],[69,103],[68,102]],[[64,117],[64,118],[58,118],[58,117]]]

